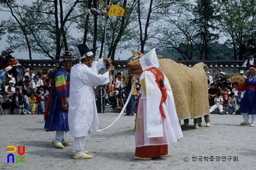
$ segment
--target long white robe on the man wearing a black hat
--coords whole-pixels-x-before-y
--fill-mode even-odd
[[[78,63],[71,69],[69,88],[69,132],[73,137],[88,136],[97,131],[99,120],[93,86],[109,82],[109,72],[98,74],[103,60],[94,61],[91,68]]]

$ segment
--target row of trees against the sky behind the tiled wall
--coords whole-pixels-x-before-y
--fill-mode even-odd
[[[124,7],[124,17],[105,16],[110,4]],[[113,61],[132,48],[145,53],[156,47],[168,55],[176,51],[174,58],[210,60],[229,58],[230,48],[234,59],[244,59],[256,47],[254,0],[4,0],[2,6],[12,18],[2,20],[0,37],[7,33],[10,48],[28,51],[30,59],[32,53],[58,59],[67,49],[79,55],[82,43],[99,47],[97,56]],[[103,15],[89,15],[91,8]]]

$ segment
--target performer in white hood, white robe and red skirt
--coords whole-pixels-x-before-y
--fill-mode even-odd
[[[154,49],[140,58],[140,65],[143,73],[135,120],[135,159],[148,160],[167,155],[167,144],[177,142],[183,134],[173,91],[165,74],[157,69]]]

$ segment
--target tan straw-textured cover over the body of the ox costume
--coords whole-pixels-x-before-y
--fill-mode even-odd
[[[187,67],[171,59],[159,59],[159,69],[173,90],[179,120],[209,114],[208,85],[204,63]]]

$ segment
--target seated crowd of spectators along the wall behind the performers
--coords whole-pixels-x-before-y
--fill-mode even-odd
[[[180,58],[179,61],[178,63],[181,63]],[[250,54],[249,59],[244,62],[244,66],[246,67],[249,64],[255,63],[254,55]],[[5,66],[0,63],[1,95],[5,99],[4,102],[11,103],[15,90],[20,89],[20,94],[23,96],[23,101],[20,102],[20,104],[23,104],[25,109],[31,114],[44,113],[51,86],[47,69],[42,69],[42,72],[34,73],[34,68],[21,66],[20,71],[18,65],[18,60],[11,55]],[[56,64],[56,67],[58,66],[59,65]],[[18,74],[20,74],[20,80],[17,79]],[[240,71],[240,74],[246,78],[243,70]],[[219,108],[219,104],[221,104],[222,107],[227,108],[226,112],[219,108],[221,114],[228,114],[229,111],[232,112],[233,115],[239,114],[238,108],[241,98],[244,96],[244,91],[236,90],[236,85],[227,82],[225,72],[221,70],[217,70],[217,74],[214,77],[211,76],[210,72],[206,72],[206,76],[208,77],[208,99],[211,111],[213,112],[214,108]],[[104,112],[105,105],[110,105],[114,110],[121,109],[134,81],[135,77],[133,75],[128,74],[124,76],[121,72],[116,73],[116,75],[110,73],[110,82],[108,85],[103,85],[101,88],[97,87],[98,112]],[[136,87],[137,88],[132,91],[132,96],[127,105],[127,115],[131,116],[135,114],[140,89],[138,80],[136,80]],[[217,102],[217,100],[219,100],[217,93],[220,93],[223,101]],[[12,107],[15,105],[17,104],[10,104]]]

